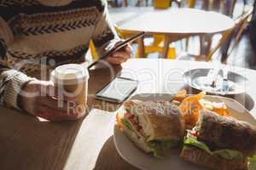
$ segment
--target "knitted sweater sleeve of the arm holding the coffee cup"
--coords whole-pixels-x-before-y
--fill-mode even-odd
[[[33,78],[7,65],[7,49],[13,41],[13,32],[0,16],[0,104],[20,109],[17,105],[20,89]]]

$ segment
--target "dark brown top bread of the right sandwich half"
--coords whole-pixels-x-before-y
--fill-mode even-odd
[[[201,111],[198,139],[220,149],[238,150],[246,156],[256,151],[256,127],[212,111]]]

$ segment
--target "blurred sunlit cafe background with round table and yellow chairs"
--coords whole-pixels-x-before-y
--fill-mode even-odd
[[[108,0],[108,6],[119,37],[146,31],[132,44],[135,58],[219,59],[256,68],[253,0]],[[228,19],[235,25],[229,26]],[[98,57],[93,42],[88,56]]]

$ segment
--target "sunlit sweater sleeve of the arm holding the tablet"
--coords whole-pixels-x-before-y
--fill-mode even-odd
[[[96,46],[97,54],[101,56],[108,45],[113,46],[120,41],[120,38],[110,21],[108,4],[106,1],[102,1],[102,10],[99,10],[99,13],[92,40]]]

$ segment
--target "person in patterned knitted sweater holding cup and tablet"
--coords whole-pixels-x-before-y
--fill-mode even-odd
[[[47,77],[58,65],[85,62],[90,40],[99,55],[119,41],[104,0],[0,0],[0,103],[55,121],[83,116],[58,107]],[[130,56],[127,46],[106,61]]]

